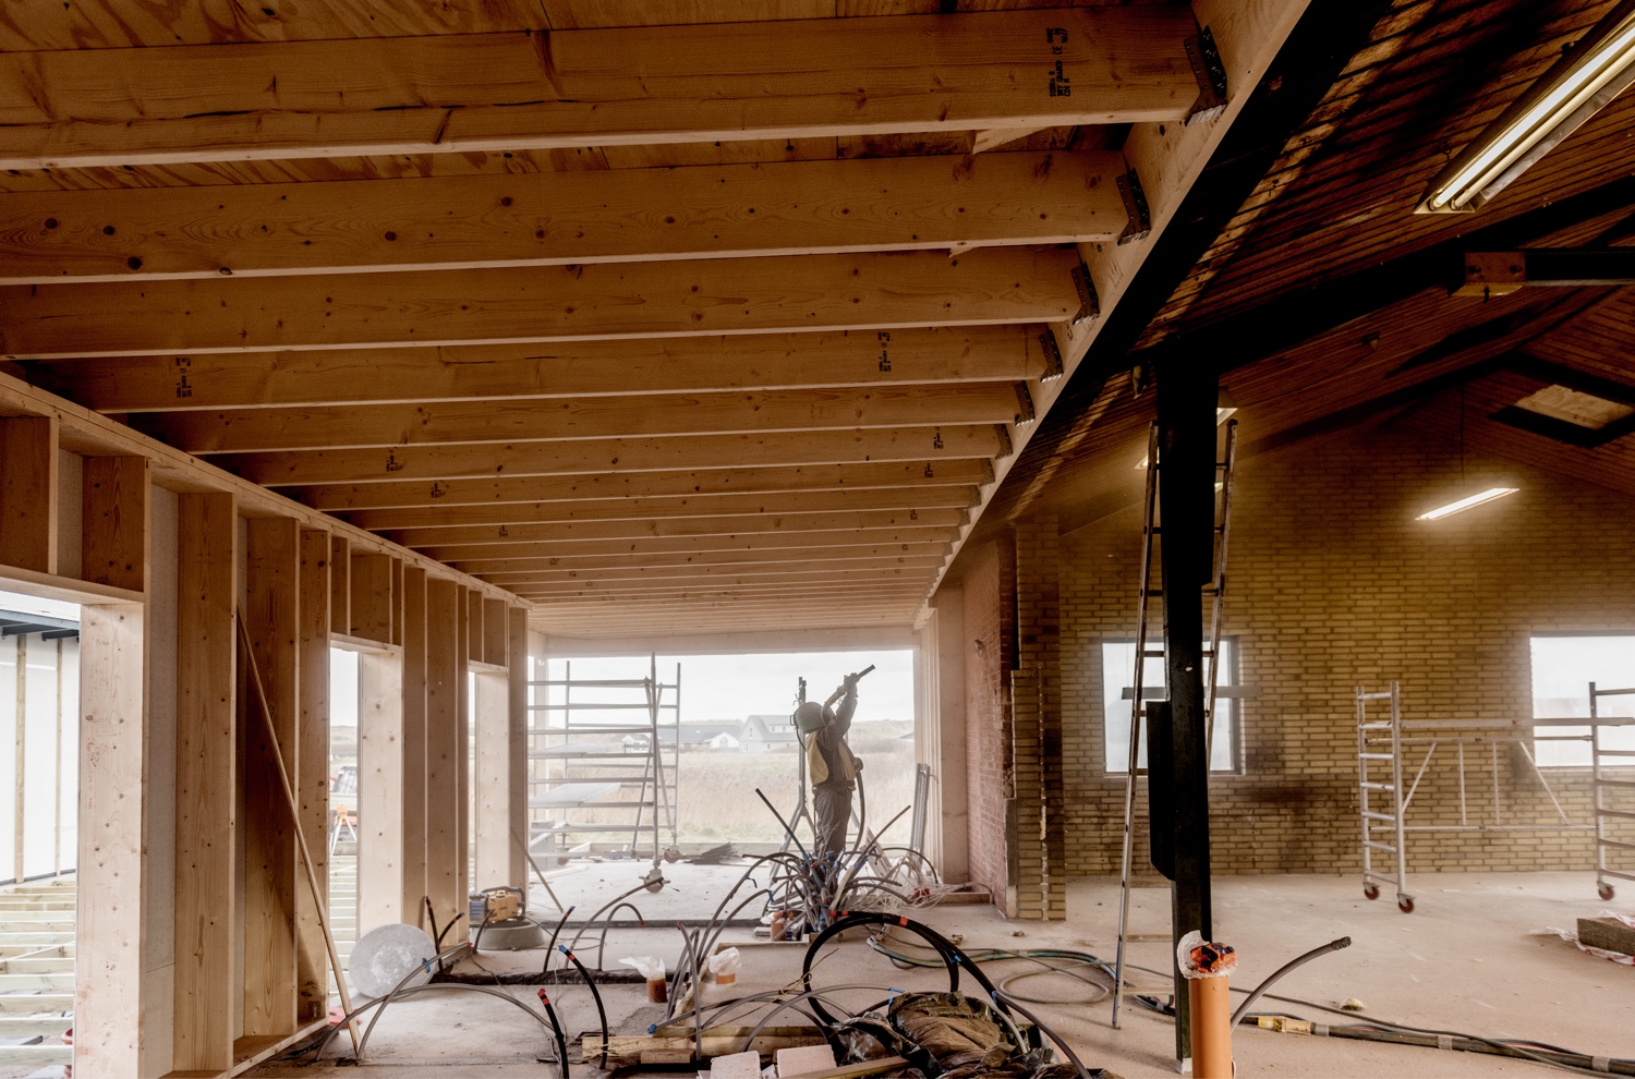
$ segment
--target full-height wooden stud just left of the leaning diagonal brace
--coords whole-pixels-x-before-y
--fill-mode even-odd
[[[177,1071],[232,1068],[235,992],[234,597],[227,494],[181,494],[177,567]]]

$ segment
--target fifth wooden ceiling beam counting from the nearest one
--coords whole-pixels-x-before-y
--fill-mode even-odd
[[[469,401],[427,405],[335,405],[162,412],[131,425],[193,454],[350,450],[513,440],[853,430],[906,423],[1027,423],[1020,384],[778,389],[757,394],[665,394]],[[1020,409],[1027,409],[1020,412]]]

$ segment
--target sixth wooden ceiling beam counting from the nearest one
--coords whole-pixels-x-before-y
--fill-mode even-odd
[[[494,479],[502,476],[618,476],[714,468],[790,468],[1002,458],[1004,425],[901,427],[849,432],[775,432],[677,438],[515,441],[494,446],[394,446],[319,453],[244,453],[214,463],[268,487],[394,479]]]

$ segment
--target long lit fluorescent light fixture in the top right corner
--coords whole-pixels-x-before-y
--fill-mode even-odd
[[[1437,173],[1414,213],[1475,211],[1635,82],[1635,0],[1624,0]]]

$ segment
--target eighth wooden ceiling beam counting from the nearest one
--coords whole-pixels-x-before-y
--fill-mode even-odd
[[[428,526],[489,526],[548,522],[685,520],[831,513],[847,510],[925,510],[976,505],[976,487],[875,487],[868,490],[791,490],[783,494],[670,495],[595,499],[590,502],[522,502],[437,505],[407,510],[358,510],[347,520],[370,531]]]

